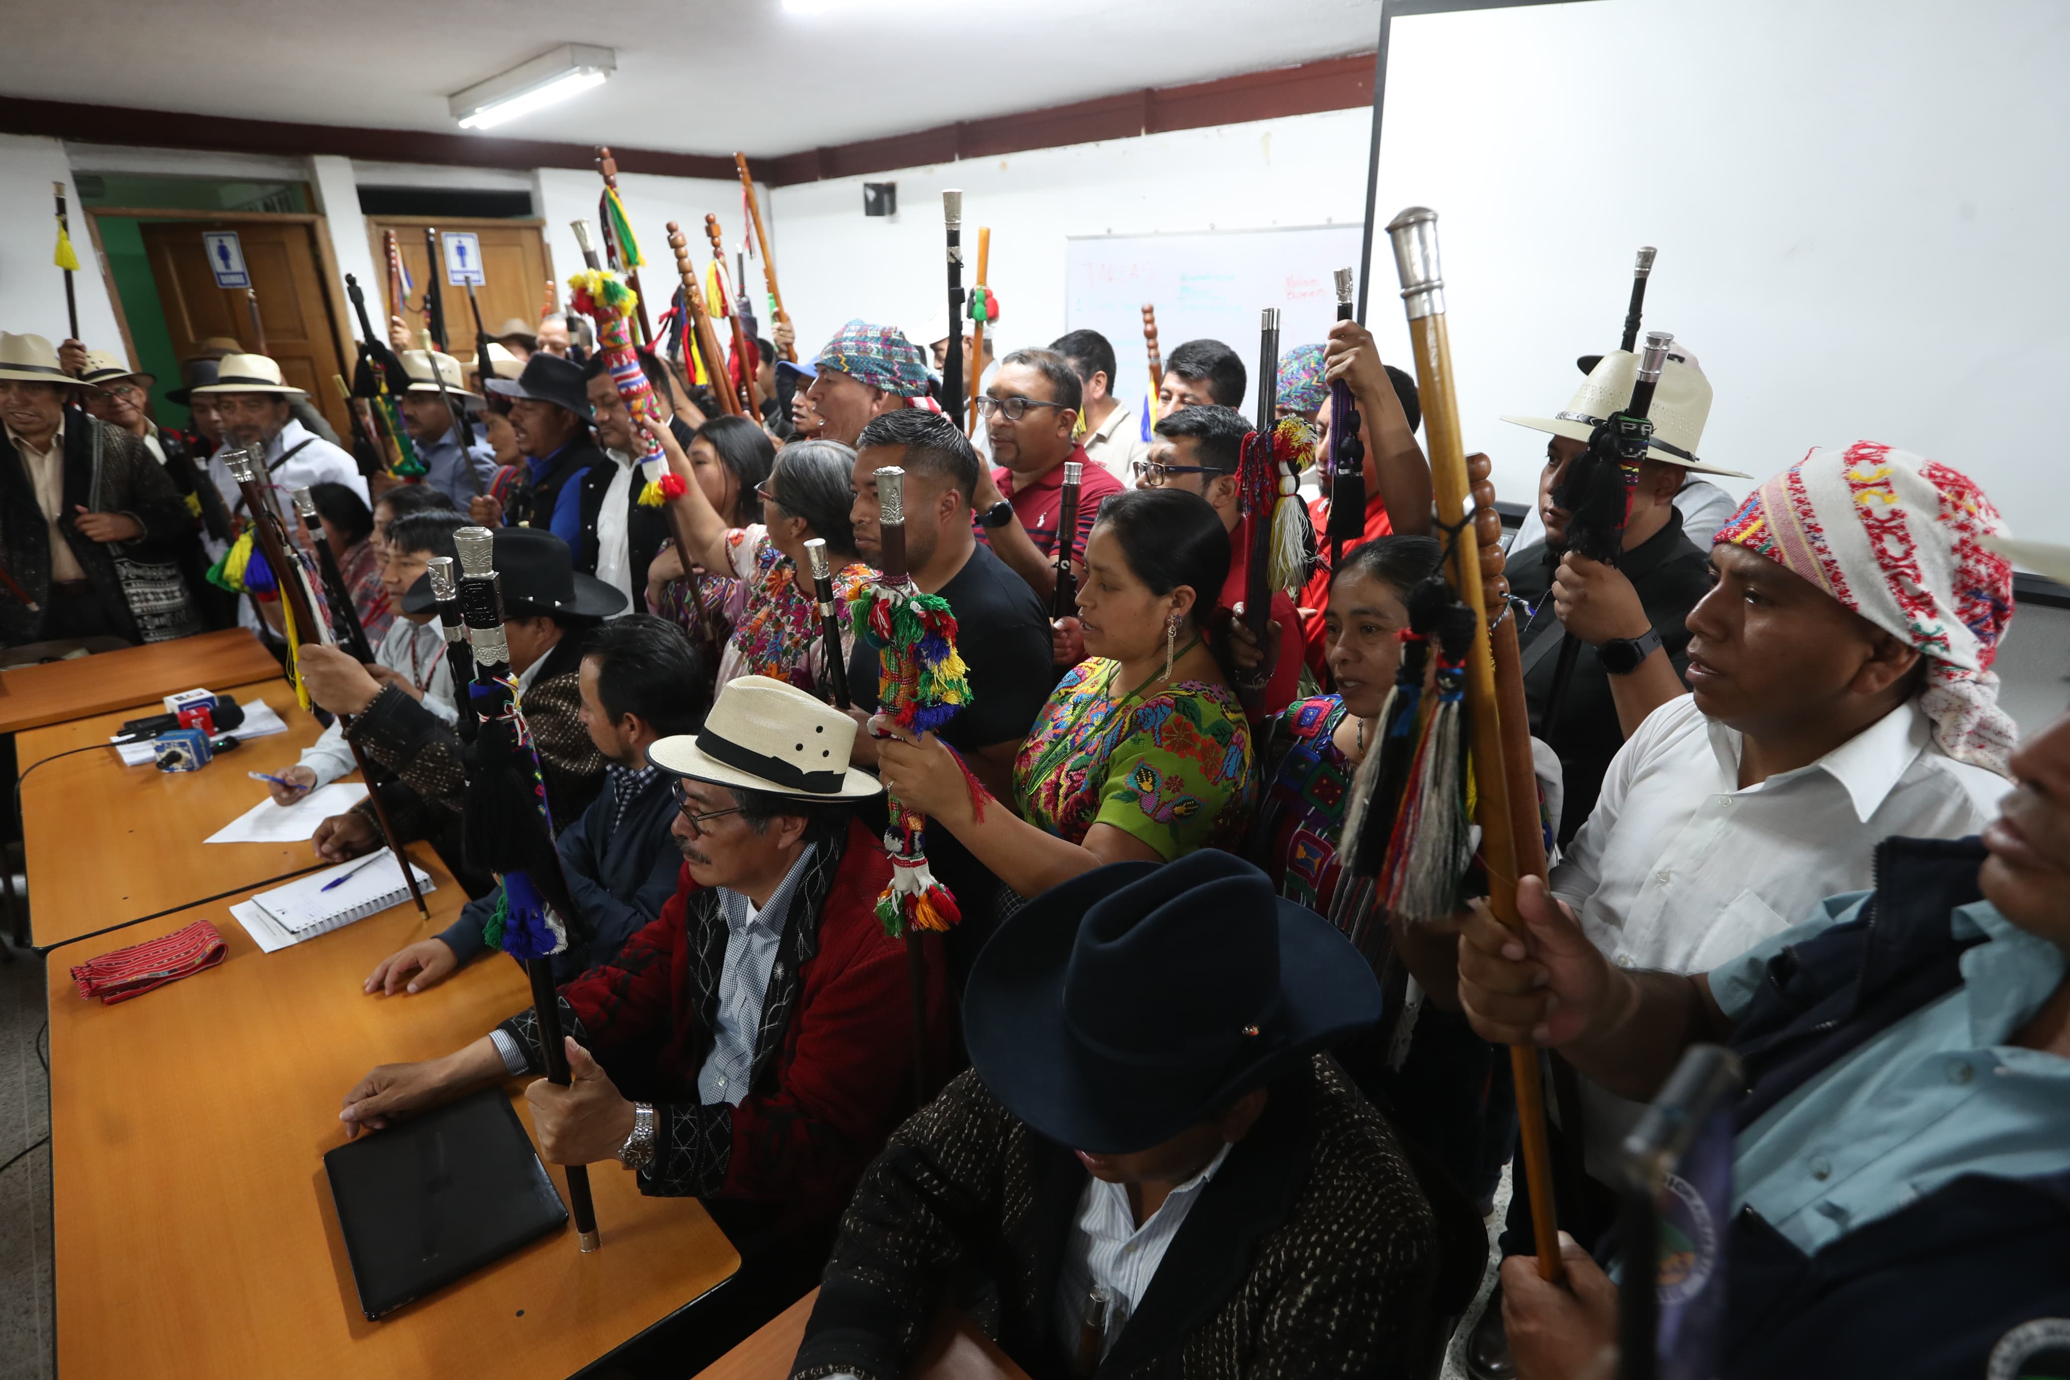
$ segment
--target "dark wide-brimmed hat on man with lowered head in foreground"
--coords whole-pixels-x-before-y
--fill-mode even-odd
[[[1023,906],[977,956],[971,1063],[1043,1136],[1134,1154],[1381,1018],[1372,968],[1250,863],[1112,863]]]

